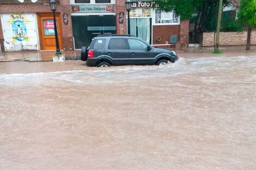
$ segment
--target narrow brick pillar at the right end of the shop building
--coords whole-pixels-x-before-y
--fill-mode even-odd
[[[180,43],[182,48],[188,47],[189,32],[190,32],[190,21],[189,20],[181,21]]]

